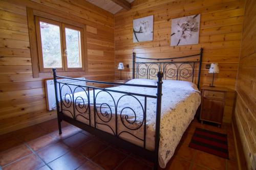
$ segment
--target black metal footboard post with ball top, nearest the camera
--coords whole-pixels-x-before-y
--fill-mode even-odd
[[[161,120],[161,102],[162,102],[162,84],[163,72],[159,71],[157,74],[157,112],[156,112],[156,135],[155,135],[155,162],[154,169],[158,169],[158,150],[160,141],[160,120]]]

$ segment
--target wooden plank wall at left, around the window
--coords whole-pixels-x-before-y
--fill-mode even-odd
[[[83,0],[0,1],[0,134],[56,117],[46,110],[44,80],[32,77],[26,7],[87,25],[87,71],[66,76],[114,79],[114,16]]]

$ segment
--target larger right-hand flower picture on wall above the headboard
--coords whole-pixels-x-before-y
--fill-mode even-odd
[[[172,19],[170,46],[198,44],[200,14]]]

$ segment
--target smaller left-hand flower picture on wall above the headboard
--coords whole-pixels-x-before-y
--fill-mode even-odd
[[[133,42],[153,40],[153,15],[133,20]]]

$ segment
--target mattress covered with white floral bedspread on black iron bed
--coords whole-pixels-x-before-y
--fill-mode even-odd
[[[157,85],[156,80],[146,79],[133,79],[127,84]],[[133,86],[118,86],[107,89],[148,95],[156,95],[157,92],[156,88]],[[201,103],[201,97],[197,86],[185,81],[163,80],[162,93],[159,165],[164,168],[168,160],[172,158],[183,133],[191,120],[194,119]],[[120,138],[143,147],[143,141],[140,139],[143,139],[144,134],[142,125],[144,96],[130,96],[104,90],[95,90],[94,94],[96,96],[96,128],[114,134],[116,130],[115,108],[117,108],[117,134]],[[74,93],[75,115],[73,114],[73,95],[66,94],[63,96],[63,113],[70,117],[76,117],[80,122],[89,125],[87,119],[89,118],[89,98],[91,126],[94,126],[93,90],[90,90],[90,93],[88,91]],[[156,99],[146,99],[146,149],[151,151],[154,150],[155,146],[156,103]]]

